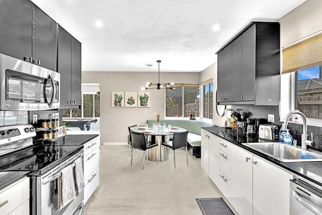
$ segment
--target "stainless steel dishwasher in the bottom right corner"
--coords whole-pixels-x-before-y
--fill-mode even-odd
[[[322,215],[322,187],[304,179],[290,180],[290,215]]]

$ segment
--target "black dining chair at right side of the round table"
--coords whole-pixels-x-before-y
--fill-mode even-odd
[[[188,146],[187,146],[187,137],[188,137],[188,130],[182,132],[175,132],[173,135],[173,140],[168,142],[162,142],[162,147],[167,147],[173,150],[173,160],[175,163],[176,169],[176,150],[186,148],[187,154],[187,164],[188,164]],[[163,162],[163,149],[161,149],[161,162]]]

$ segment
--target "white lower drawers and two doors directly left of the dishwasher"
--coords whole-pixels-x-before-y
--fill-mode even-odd
[[[289,214],[289,180],[293,175],[218,138],[219,181],[214,182],[238,214]]]

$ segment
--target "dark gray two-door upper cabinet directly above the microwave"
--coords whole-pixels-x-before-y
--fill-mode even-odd
[[[0,53],[56,71],[56,22],[29,0],[0,0]]]

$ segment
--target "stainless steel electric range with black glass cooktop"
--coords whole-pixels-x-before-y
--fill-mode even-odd
[[[32,125],[0,127],[0,171],[28,171],[30,214],[83,214],[84,189],[63,208],[58,208],[57,180],[61,170],[82,157],[83,146],[57,142],[33,144]]]

